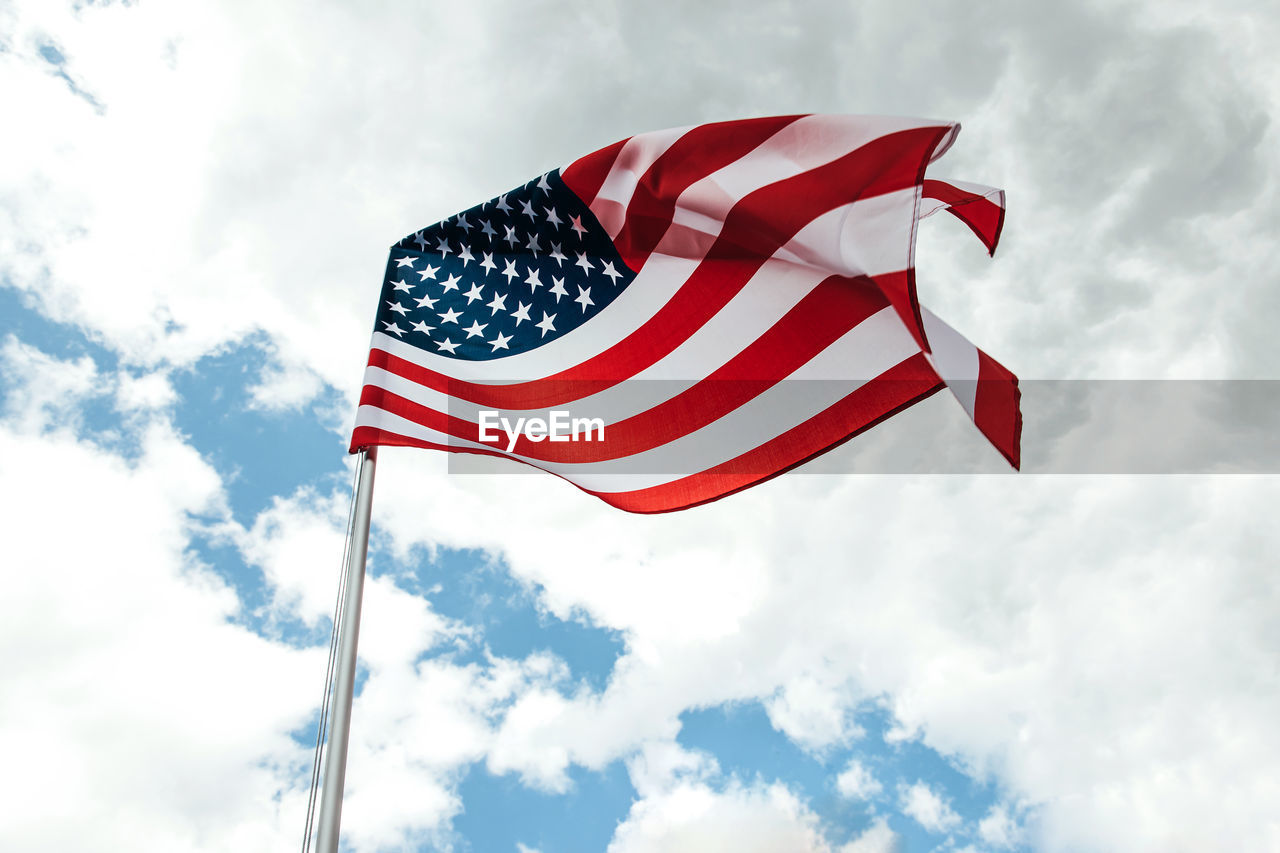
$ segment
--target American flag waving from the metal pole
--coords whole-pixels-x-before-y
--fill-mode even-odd
[[[662,512],[950,387],[1016,467],[1016,378],[915,295],[923,216],[955,214],[992,252],[1004,224],[1002,191],[925,178],[959,129],[791,115],[643,133],[404,237],[352,452],[503,456]]]

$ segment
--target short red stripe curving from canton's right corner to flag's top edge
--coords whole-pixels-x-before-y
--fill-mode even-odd
[[[613,241],[626,265],[634,270],[644,266],[671,225],[677,199],[690,184],[746,156],[799,118],[803,117],[717,122],[676,140],[636,183],[626,222]]]

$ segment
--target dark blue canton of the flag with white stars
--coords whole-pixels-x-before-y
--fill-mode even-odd
[[[392,246],[374,328],[449,359],[500,359],[568,334],[634,279],[554,170]]]

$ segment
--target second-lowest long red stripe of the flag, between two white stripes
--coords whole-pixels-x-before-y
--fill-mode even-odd
[[[549,443],[521,435],[512,452],[540,461],[599,462],[659,447],[764,393],[883,307],[883,296],[868,279],[832,275],[707,379],[653,409],[609,424],[603,441]],[[480,441],[477,424],[445,416],[374,386],[365,387],[360,403],[460,438],[488,443]],[[577,414],[591,415],[590,411]],[[506,442],[503,438],[502,444]]]

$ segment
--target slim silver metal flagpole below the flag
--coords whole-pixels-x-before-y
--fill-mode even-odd
[[[369,515],[374,505],[374,465],[378,448],[360,451],[356,482],[356,511],[351,521],[347,555],[347,597],[342,605],[342,635],[338,638],[338,671],[334,675],[333,716],[325,747],[324,788],[320,793],[320,829],[316,853],[338,853],[342,824],[342,789],[347,776],[347,740],[351,735],[351,699],[356,690],[356,643],[360,639],[360,601],[365,587],[365,556],[369,552]]]

